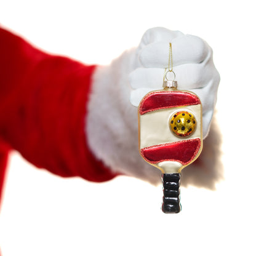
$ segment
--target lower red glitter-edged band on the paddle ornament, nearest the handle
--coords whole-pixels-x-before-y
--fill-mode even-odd
[[[141,153],[143,158],[151,162],[151,164],[163,161],[177,161],[185,165],[195,158],[200,146],[200,138],[193,138],[191,140],[142,148]]]

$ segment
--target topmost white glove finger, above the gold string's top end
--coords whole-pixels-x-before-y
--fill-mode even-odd
[[[162,27],[150,28],[143,34],[138,51],[148,44],[153,44],[154,42],[170,42],[178,36],[183,36],[183,33]]]

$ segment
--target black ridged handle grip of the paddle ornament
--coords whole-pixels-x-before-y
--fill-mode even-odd
[[[165,214],[177,214],[180,205],[180,174],[162,174],[162,211]]]

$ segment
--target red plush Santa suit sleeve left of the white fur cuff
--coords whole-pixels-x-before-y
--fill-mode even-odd
[[[62,177],[115,177],[90,153],[84,134],[94,69],[45,54],[0,28],[0,140]],[[6,155],[1,154],[0,185]]]

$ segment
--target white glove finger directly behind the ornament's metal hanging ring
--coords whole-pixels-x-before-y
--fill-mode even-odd
[[[215,73],[212,65],[184,64],[174,68],[178,89],[188,90],[204,87]],[[167,77],[168,78],[168,77]],[[164,79],[163,68],[137,68],[129,74],[130,86],[133,89],[141,87],[162,88]]]

